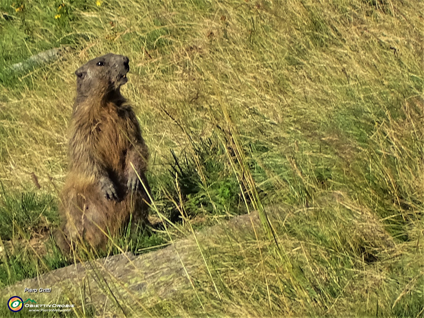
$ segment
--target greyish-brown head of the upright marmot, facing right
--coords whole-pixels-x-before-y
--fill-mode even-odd
[[[128,61],[128,57],[112,53],[88,61],[75,71],[78,95],[98,96],[119,90],[128,81]]]

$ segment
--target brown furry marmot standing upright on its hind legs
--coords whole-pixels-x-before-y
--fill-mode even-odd
[[[120,93],[128,71],[128,58],[111,53],[75,71],[70,171],[61,193],[61,229],[55,235],[64,254],[81,240],[92,248],[104,248],[108,240],[104,233],[117,234],[131,214],[133,224],[148,223],[148,149],[135,114]]]

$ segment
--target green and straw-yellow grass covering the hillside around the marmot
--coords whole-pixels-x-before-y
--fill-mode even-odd
[[[167,226],[111,252],[253,209],[266,230],[204,242],[210,275],[143,315],[424,315],[419,1],[2,0],[0,13],[0,287],[67,264],[49,231],[73,72],[113,52],[130,59],[123,94]]]

